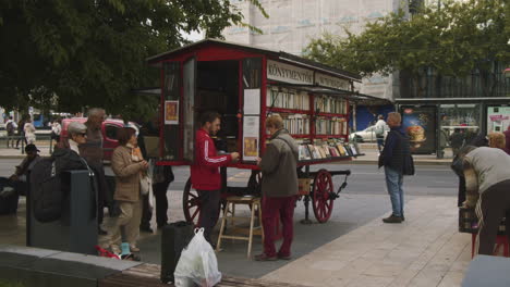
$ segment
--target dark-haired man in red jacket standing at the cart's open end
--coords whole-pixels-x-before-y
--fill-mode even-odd
[[[192,186],[198,191],[202,202],[198,225],[204,227],[204,236],[210,240],[210,233],[218,222],[220,208],[221,176],[219,169],[239,159],[239,152],[217,155],[215,142],[209,135],[220,129],[220,115],[206,112],[201,116],[201,126],[195,134],[195,162],[191,166]]]

